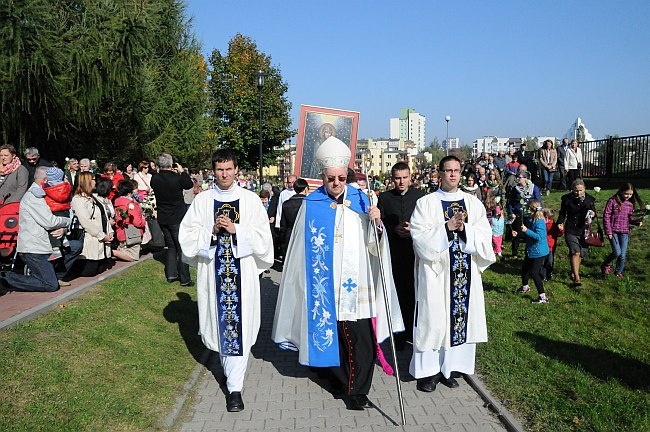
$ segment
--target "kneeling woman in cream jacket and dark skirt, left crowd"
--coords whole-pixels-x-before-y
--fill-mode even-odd
[[[86,265],[81,276],[96,276],[108,266],[111,257],[113,228],[105,214],[104,206],[92,194],[95,178],[89,172],[79,173],[79,181],[71,207],[85,231],[81,256]]]

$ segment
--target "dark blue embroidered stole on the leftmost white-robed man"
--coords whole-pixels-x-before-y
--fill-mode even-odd
[[[239,222],[239,200],[222,203],[214,201],[214,220],[224,215]],[[224,356],[242,355],[241,276],[239,258],[232,250],[234,238],[226,230],[217,234],[215,262],[217,316],[219,324],[219,353]]]

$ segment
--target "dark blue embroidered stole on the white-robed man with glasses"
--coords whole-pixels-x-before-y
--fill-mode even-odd
[[[463,212],[467,222],[465,201],[442,201],[442,213],[445,221],[454,214]],[[449,246],[449,262],[451,270],[451,307],[450,335],[451,346],[462,345],[467,341],[467,319],[469,317],[469,292],[471,286],[471,256],[461,251],[460,240],[454,233],[454,239]]]

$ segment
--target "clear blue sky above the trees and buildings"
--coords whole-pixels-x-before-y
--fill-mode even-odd
[[[359,111],[359,138],[389,135],[401,108],[427,142],[650,133],[650,2],[187,0],[207,55],[252,38],[300,105]]]

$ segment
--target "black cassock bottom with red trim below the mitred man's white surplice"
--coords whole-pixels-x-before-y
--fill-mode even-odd
[[[338,321],[340,366],[330,368],[345,394],[367,395],[375,369],[375,336],[370,319]]]

